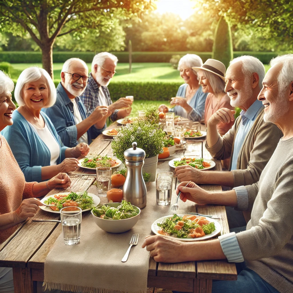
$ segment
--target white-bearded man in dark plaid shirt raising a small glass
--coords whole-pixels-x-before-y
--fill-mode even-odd
[[[91,115],[92,111],[100,105],[108,106],[112,112],[110,116],[112,121],[124,118],[131,113],[132,100],[120,98],[113,103],[110,98],[107,86],[116,73],[117,62],[117,57],[108,52],[101,52],[93,57],[88,85],[81,95],[88,115]]]

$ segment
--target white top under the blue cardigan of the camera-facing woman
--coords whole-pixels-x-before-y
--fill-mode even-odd
[[[30,122],[28,122],[28,123],[30,123]],[[60,146],[57,143],[57,141],[56,141],[55,137],[53,136],[53,134],[51,133],[51,131],[49,130],[46,123],[45,123],[45,127],[41,128],[41,129],[35,127],[35,125],[33,125],[31,123],[30,123],[30,125],[33,127],[35,132],[38,134],[40,139],[42,139],[42,141],[44,142],[44,144],[47,146],[47,148],[50,151],[50,154],[51,154],[50,166],[57,165],[57,160],[59,159],[59,156],[60,156]]]

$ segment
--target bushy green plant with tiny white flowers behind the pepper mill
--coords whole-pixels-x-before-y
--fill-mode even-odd
[[[137,142],[137,147],[145,151],[146,158],[151,158],[163,152],[165,135],[158,124],[138,121],[123,126],[114,137],[111,147],[116,157],[124,162],[124,151],[130,149],[133,142]]]

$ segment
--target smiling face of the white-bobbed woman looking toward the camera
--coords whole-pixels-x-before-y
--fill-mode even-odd
[[[45,76],[37,81],[25,84],[21,96],[27,108],[32,110],[42,109],[48,103],[49,97],[49,88]]]

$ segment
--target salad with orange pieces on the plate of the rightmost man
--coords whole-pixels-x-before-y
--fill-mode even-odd
[[[214,222],[195,215],[180,217],[174,214],[172,218],[166,218],[157,225],[161,228],[159,234],[177,238],[198,238],[216,230]]]

